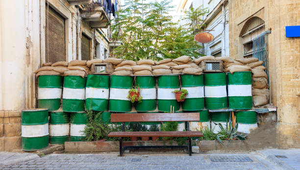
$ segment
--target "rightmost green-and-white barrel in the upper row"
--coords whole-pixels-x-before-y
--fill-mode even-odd
[[[249,110],[252,108],[251,72],[228,73],[228,107]]]

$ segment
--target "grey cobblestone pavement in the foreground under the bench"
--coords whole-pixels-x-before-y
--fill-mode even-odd
[[[117,152],[99,154],[50,154],[0,170],[196,170],[196,169],[282,169],[269,162],[258,153],[214,153],[214,154],[125,154],[118,157]]]

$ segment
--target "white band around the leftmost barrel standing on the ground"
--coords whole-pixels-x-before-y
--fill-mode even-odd
[[[25,138],[36,138],[49,135],[49,125],[22,125],[22,137]]]

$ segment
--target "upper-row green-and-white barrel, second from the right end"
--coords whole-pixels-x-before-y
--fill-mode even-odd
[[[206,109],[227,108],[226,73],[204,74],[204,96]]]

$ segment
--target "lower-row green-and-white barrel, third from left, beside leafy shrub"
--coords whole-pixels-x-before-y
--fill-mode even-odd
[[[85,112],[71,113],[70,141],[80,142],[85,137],[84,128],[88,117]]]

